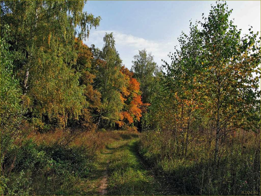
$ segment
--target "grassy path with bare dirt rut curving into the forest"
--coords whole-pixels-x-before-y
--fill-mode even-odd
[[[101,153],[103,172],[96,195],[177,195],[138,153],[138,139],[119,140]]]

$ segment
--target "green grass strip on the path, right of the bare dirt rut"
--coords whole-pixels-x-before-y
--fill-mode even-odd
[[[111,155],[108,195],[153,195],[157,188],[151,172],[141,164],[138,140],[131,140]]]

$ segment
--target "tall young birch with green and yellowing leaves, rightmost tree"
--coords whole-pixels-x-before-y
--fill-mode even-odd
[[[248,111],[260,105],[260,37],[249,28],[249,34],[240,38],[240,30],[229,21],[232,10],[226,3],[211,5],[208,18],[199,22],[203,29],[197,33],[202,39],[202,73],[199,88],[209,110],[216,119],[215,162],[218,158],[221,131],[238,128],[249,130]],[[253,77],[256,72],[259,77]],[[215,108],[213,110],[213,108]]]

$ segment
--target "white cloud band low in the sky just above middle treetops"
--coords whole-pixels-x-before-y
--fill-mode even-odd
[[[133,56],[138,54],[141,49],[146,49],[151,52],[154,56],[155,62],[158,65],[162,64],[161,59],[169,60],[168,54],[173,51],[175,42],[163,40],[163,41],[153,41],[147,40],[141,37],[135,37],[131,34],[124,34],[119,31],[92,31],[90,33],[89,40],[85,43],[87,45],[94,44],[100,49],[103,47],[103,37],[105,33],[113,32],[116,42],[116,49],[118,50],[120,57],[126,67],[131,68]]]

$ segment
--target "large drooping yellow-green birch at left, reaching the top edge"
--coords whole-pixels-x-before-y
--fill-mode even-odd
[[[72,69],[74,39],[88,37],[100,21],[83,7],[84,1],[1,1],[1,25],[8,24],[13,37],[10,50],[23,56],[14,70],[30,99],[27,116],[39,127],[65,126],[80,114],[85,98],[80,74]]]

